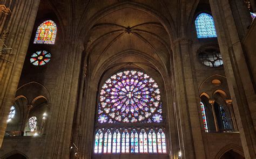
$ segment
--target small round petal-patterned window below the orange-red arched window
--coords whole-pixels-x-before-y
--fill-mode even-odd
[[[45,50],[37,51],[33,53],[30,62],[35,66],[43,66],[51,60],[51,54]]]

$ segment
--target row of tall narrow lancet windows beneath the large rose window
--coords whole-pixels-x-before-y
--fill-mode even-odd
[[[114,133],[111,133],[112,131]],[[97,129],[94,152],[95,154],[167,153],[164,129],[119,128],[115,131]]]

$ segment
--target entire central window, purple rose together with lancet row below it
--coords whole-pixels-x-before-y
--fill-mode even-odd
[[[97,112],[95,154],[167,152],[160,90],[142,71],[125,70],[107,79]]]

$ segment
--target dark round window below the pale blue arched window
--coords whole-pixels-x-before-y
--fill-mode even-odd
[[[208,67],[219,67],[223,65],[220,51],[214,47],[200,49],[198,57],[201,63]]]

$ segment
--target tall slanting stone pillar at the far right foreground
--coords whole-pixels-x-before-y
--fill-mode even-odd
[[[228,0],[210,0],[228,88],[246,158],[256,157],[256,95]]]

